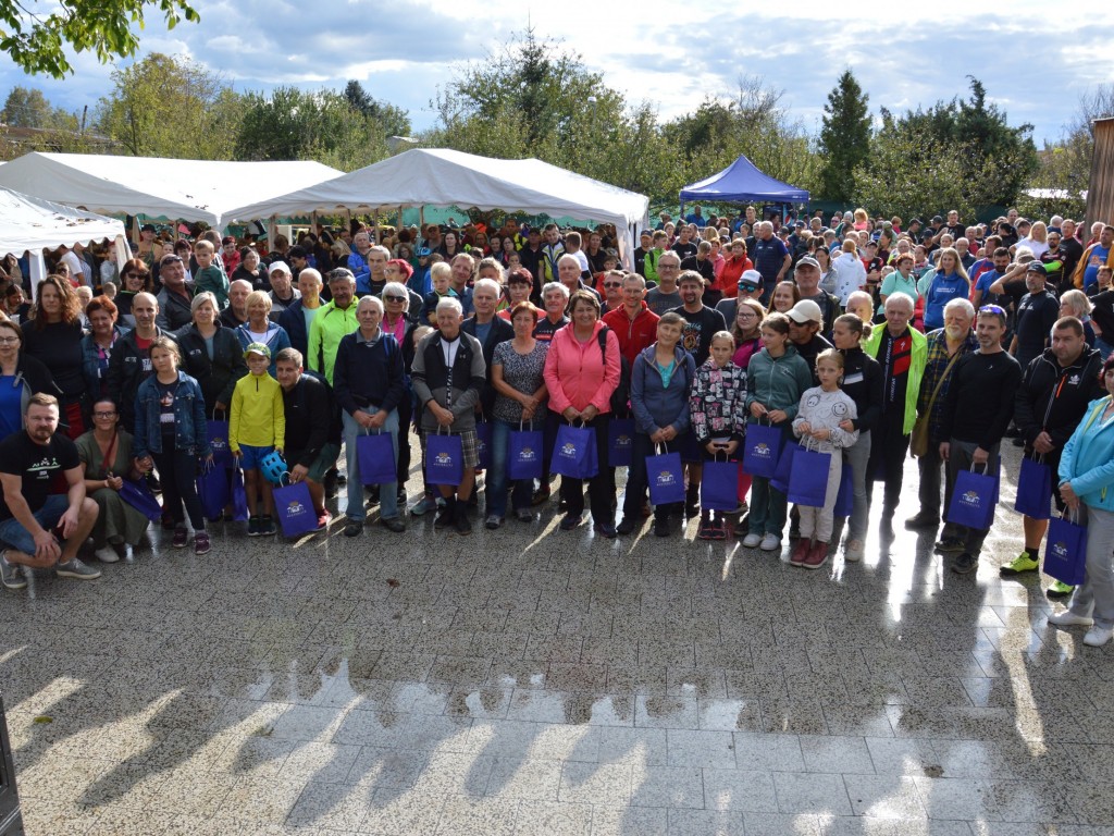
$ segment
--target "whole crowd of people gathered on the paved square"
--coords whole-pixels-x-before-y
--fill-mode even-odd
[[[96,245],[51,253],[33,294],[19,259],[4,260],[6,586],[26,585],[19,564],[99,576],[79,550],[91,538],[111,563],[137,544],[152,515],[131,494],[145,486],[162,493],[154,516],[173,546],[192,529],[209,552],[206,526],[231,517],[206,518],[197,493],[198,473],[221,466],[217,416],[250,536],[277,531],[275,455],[309,487],[319,528],[344,455],[351,537],[377,505],[391,534],[428,513],[461,535],[477,516],[492,531],[528,523],[559,473],[561,531],[590,514],[598,536],[631,536],[652,517],[668,537],[698,517],[702,539],[780,554],[788,526],[789,562],[810,570],[862,558],[871,507],[892,517],[911,450],[920,507],[906,525],[939,529],[959,574],[977,567],[989,523],[951,518],[957,482],[997,475],[1012,439],[1051,475],[1044,504],[1092,532],[1087,580],[1048,591],[1071,596],[1054,623],[1111,638],[1114,226],[696,207],[676,223],[663,213],[626,260],[612,227],[514,217],[498,230],[320,226],[273,244],[213,231],[164,241],[147,225],[124,264]],[[364,479],[370,435],[390,439],[394,467]],[[459,475],[438,480],[447,437]],[[521,440],[538,437],[524,476]],[[807,500],[800,450],[825,470]],[[1040,568],[1048,516],[1023,516],[1003,575]]]

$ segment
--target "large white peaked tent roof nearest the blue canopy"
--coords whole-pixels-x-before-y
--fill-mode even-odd
[[[426,205],[569,215],[623,226],[644,220],[649,201],[540,159],[416,148],[326,183],[235,207],[231,214],[252,218]]]

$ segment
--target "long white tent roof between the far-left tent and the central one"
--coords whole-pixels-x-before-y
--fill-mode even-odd
[[[205,221],[219,227],[245,195],[266,198],[338,177],[314,162],[227,163],[100,154],[25,154],[0,187],[92,212]]]

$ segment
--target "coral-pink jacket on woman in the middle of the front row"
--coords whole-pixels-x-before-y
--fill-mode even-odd
[[[549,408],[558,415],[570,406],[583,411],[589,404],[600,414],[610,411],[612,392],[619,385],[619,343],[615,332],[609,331],[607,353],[600,358],[603,328],[603,322],[596,322],[592,339],[582,343],[576,339],[575,325],[569,323],[550,340],[544,376]]]

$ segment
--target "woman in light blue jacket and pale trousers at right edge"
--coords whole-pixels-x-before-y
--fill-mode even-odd
[[[1087,524],[1086,576],[1067,610],[1048,616],[1057,626],[1089,626],[1083,643],[1094,648],[1114,635],[1114,357],[1102,381],[1110,395],[1087,407],[1059,459],[1059,495]]]

